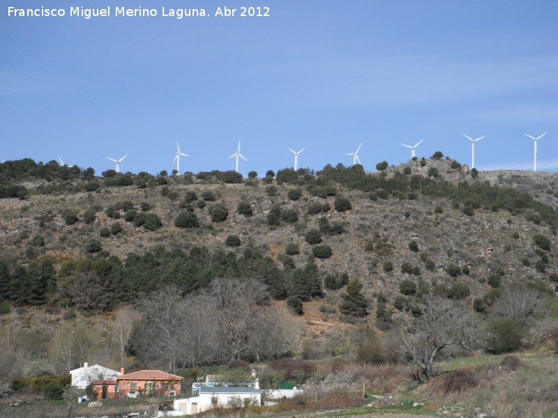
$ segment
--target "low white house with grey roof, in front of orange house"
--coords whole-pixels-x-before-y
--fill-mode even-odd
[[[240,408],[261,403],[262,389],[259,387],[202,386],[199,387],[199,396],[176,399],[173,409],[178,415],[193,415],[219,406]]]

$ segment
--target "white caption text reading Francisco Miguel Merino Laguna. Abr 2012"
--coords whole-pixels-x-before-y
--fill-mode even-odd
[[[219,6],[211,13],[203,8],[127,8],[119,6],[107,6],[103,8],[85,8],[84,6],[66,8],[16,8],[8,7],[8,17],[83,17],[91,19],[91,17],[174,17],[182,19],[183,17],[269,17],[269,7],[242,7],[229,8],[227,6]]]

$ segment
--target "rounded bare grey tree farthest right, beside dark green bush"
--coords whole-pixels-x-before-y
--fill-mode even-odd
[[[512,318],[525,327],[545,310],[545,295],[542,292],[515,284],[502,291],[492,306],[492,315]]]

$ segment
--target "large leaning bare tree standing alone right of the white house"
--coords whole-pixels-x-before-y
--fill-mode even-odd
[[[418,380],[436,375],[435,363],[448,348],[474,350],[483,346],[488,331],[471,309],[435,295],[427,295],[420,305],[421,316],[409,325],[409,336],[403,336],[400,349],[416,366]]]

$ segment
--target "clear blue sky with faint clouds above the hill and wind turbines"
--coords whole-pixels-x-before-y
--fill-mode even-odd
[[[218,6],[270,17],[215,17]],[[65,17],[8,17],[8,6]],[[70,17],[70,6],[113,16]],[[114,7],[158,17],[114,17]],[[161,8],[205,8],[177,20]],[[237,11],[237,14],[239,11]],[[558,2],[17,0],[0,6],[0,161],[158,173],[352,164],[441,150],[478,169],[558,171]]]

